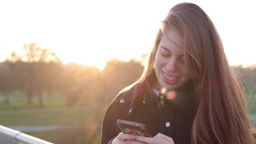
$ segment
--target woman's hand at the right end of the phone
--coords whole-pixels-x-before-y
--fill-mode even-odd
[[[135,140],[149,144],[174,144],[171,137],[158,133],[154,137],[135,136]]]

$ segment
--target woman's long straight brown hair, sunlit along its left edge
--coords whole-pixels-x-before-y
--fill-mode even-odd
[[[154,73],[161,35],[176,29],[184,38],[185,64],[195,86],[197,111],[191,141],[197,143],[255,143],[245,96],[226,59],[222,40],[210,17],[192,3],[175,5],[162,21],[155,45],[141,77],[142,85]]]

